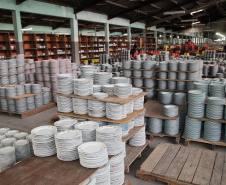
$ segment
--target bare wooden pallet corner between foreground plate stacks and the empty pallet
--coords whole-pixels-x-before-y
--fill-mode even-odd
[[[141,157],[143,150],[150,145],[150,141],[146,141],[143,146],[130,146],[126,145],[126,157],[125,157],[125,173],[129,173],[130,165],[137,159]]]

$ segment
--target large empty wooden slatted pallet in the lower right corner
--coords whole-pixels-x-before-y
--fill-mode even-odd
[[[226,184],[226,154],[161,143],[136,172],[139,179],[170,185]]]

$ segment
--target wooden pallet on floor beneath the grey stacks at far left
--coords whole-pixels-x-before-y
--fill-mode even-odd
[[[39,112],[43,112],[43,111],[48,110],[48,109],[51,109],[53,107],[56,107],[56,103],[50,103],[50,104],[44,105],[42,107],[35,108],[33,110],[29,110],[29,111],[24,112],[24,113],[9,112],[9,111],[0,111],[0,114],[1,113],[7,113],[7,114],[9,114],[9,116],[20,115],[21,119],[24,119],[24,118],[26,118],[28,116],[37,114]]]

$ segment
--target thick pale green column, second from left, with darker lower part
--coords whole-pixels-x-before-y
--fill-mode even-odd
[[[79,60],[79,37],[78,37],[78,19],[76,15],[70,19],[71,27],[71,46],[72,46],[72,59],[77,65],[80,64]]]

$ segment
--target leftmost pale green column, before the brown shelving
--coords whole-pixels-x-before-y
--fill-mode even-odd
[[[20,18],[20,11],[18,7],[16,10],[12,11],[13,15],[13,27],[14,27],[14,34],[15,34],[15,41],[16,41],[16,53],[17,54],[24,54],[24,46],[23,46],[23,34],[22,34],[22,26],[21,26],[21,18]]]

